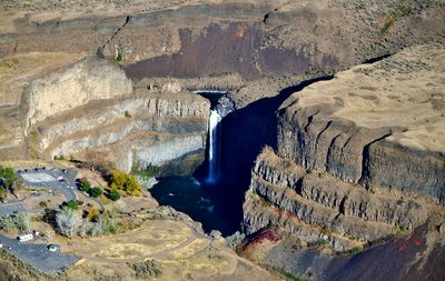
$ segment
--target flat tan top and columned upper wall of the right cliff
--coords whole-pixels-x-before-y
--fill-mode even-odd
[[[279,155],[445,202],[444,61],[443,47],[416,47],[295,93],[280,109]]]

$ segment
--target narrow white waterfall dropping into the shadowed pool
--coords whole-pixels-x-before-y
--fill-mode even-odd
[[[219,116],[218,111],[211,110],[209,120],[209,174],[207,179],[209,182],[215,182],[215,180],[218,178],[219,121],[221,121],[221,117]]]

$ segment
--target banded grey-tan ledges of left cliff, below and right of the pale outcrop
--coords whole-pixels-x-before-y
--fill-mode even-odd
[[[87,106],[81,116],[68,112],[42,122],[39,149],[51,158],[99,148],[123,170],[135,163],[162,165],[204,153],[209,107],[197,94],[137,89],[130,98]]]

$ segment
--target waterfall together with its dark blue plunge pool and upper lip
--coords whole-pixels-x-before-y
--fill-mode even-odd
[[[210,101],[206,161],[194,174],[158,178],[159,182],[150,193],[161,205],[171,205],[201,222],[206,232],[219,230],[224,235],[230,235],[239,230],[243,213],[241,199],[238,208],[233,204],[234,190],[240,190],[236,185],[238,181],[227,177],[221,164],[222,120],[235,108],[224,97],[227,91],[200,90],[195,93]]]

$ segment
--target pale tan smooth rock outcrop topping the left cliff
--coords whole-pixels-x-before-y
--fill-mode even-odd
[[[72,67],[37,79],[23,93],[24,132],[29,127],[90,101],[132,93],[131,80],[108,60],[88,57]]]

